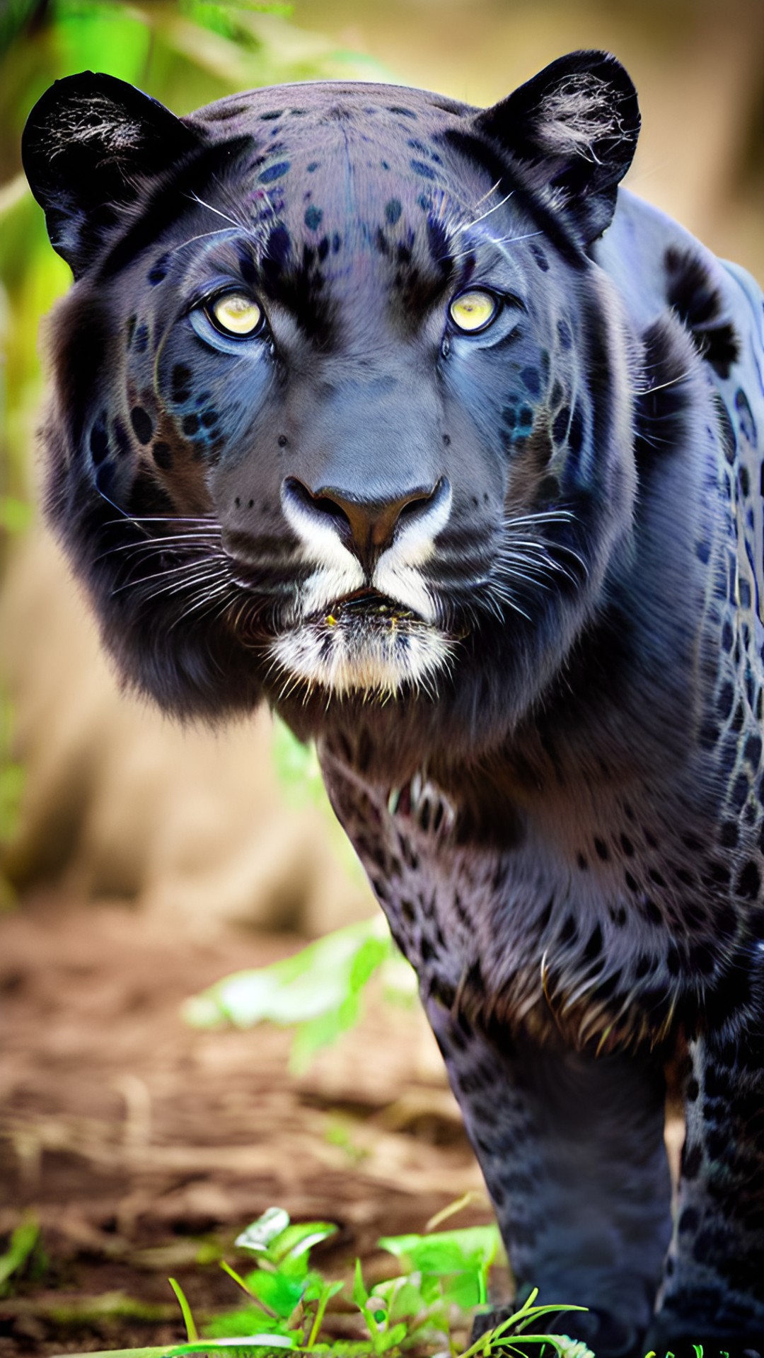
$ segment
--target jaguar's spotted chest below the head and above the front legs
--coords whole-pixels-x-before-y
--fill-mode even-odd
[[[567,828],[557,807],[514,808],[489,843],[465,839],[457,799],[420,775],[386,792],[325,774],[427,1005],[614,1046],[655,1040],[725,982],[740,902],[687,804],[586,807],[582,789]]]

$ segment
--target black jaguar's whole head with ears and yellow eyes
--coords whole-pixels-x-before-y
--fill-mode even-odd
[[[488,110],[305,84],[178,120],[58,81],[24,166],[75,287],[48,504],[128,680],[474,750],[591,617],[633,498],[589,246],[639,115],[575,53]]]

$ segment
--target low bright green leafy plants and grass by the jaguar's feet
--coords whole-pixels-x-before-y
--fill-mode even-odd
[[[359,1317],[358,1339],[332,1336],[329,1308],[347,1283],[328,1281],[310,1267],[310,1251],[336,1232],[330,1222],[290,1222],[280,1207],[271,1207],[237,1237],[235,1245],[254,1255],[256,1266],[239,1274],[222,1267],[245,1293],[246,1302],[203,1327],[200,1338],[190,1306],[179,1285],[170,1279],[181,1305],[186,1343],[170,1348],[124,1350],[122,1358],[181,1358],[218,1350],[247,1355],[294,1354],[337,1358],[402,1358],[438,1354],[440,1358],[488,1358],[502,1344],[513,1353],[510,1328],[522,1331],[523,1344],[538,1346],[540,1358],[591,1358],[586,1346],[564,1335],[530,1332],[549,1312],[580,1310],[580,1306],[537,1306],[533,1293],[514,1316],[464,1347],[469,1312],[485,1302],[491,1264],[500,1252],[496,1226],[434,1232],[424,1236],[383,1237],[379,1245],[404,1267],[398,1277],[367,1287],[356,1259],[349,1300]],[[105,1358],[105,1355],[101,1355]],[[116,1354],[111,1358],[117,1358]]]

